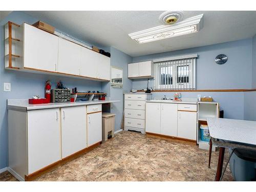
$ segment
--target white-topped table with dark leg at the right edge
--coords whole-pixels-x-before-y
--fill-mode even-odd
[[[225,147],[256,151],[256,121],[206,118],[212,144],[220,147],[216,181],[220,181]]]

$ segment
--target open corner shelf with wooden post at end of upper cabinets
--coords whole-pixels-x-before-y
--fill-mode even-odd
[[[5,25],[5,68],[18,70],[23,63],[23,28],[8,22]]]

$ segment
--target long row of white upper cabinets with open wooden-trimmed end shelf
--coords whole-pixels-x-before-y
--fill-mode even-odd
[[[26,23],[5,25],[5,69],[110,81],[110,57]]]

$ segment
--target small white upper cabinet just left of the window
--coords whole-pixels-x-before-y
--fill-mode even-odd
[[[128,78],[153,78],[154,69],[152,61],[130,63],[128,64]]]

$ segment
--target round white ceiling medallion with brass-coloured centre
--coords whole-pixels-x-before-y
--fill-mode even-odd
[[[183,13],[181,11],[165,11],[159,16],[159,21],[163,25],[173,25],[181,22]]]

